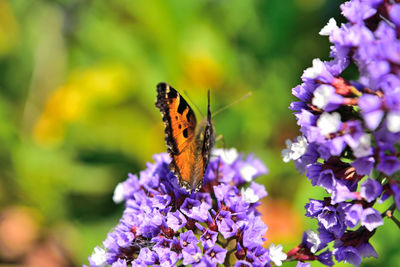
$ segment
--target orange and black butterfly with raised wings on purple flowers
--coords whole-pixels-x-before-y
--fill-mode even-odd
[[[157,85],[156,107],[165,124],[165,142],[171,157],[169,169],[187,191],[198,191],[215,144],[211,121],[210,92],[207,117],[197,124],[196,116],[186,100],[167,83]]]

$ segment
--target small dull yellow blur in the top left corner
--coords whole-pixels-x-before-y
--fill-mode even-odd
[[[0,1],[0,56],[9,52],[19,38],[19,26],[7,0]]]

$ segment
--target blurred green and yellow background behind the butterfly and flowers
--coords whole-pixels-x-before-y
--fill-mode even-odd
[[[315,222],[304,204],[323,192],[282,162],[298,135],[291,88],[339,4],[328,0],[0,0],[0,266],[78,266],[117,224],[117,183],[165,151],[155,86],[169,82],[224,142],[270,172],[261,206],[267,244],[288,251]],[[372,243],[396,266],[391,222]],[[314,265],[314,264],[313,264]]]

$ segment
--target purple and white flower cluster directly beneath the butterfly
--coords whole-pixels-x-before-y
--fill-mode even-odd
[[[253,182],[267,169],[236,150],[213,154],[199,192],[179,187],[165,153],[119,184],[114,201],[125,201],[123,216],[90,266],[269,266],[267,226],[256,209],[267,192]]]

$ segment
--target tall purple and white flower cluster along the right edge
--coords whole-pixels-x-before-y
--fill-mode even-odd
[[[400,208],[400,4],[397,1],[352,0],[341,5],[347,23],[334,19],[321,30],[332,43],[330,61],[313,60],[293,89],[302,136],[282,153],[294,160],[313,186],[325,189],[323,200],[311,199],[306,216],[318,220],[318,234],[305,233],[288,253],[301,262],[333,265],[327,249],[334,242],[337,261],[359,265],[377,257],[369,243],[383,225],[384,203]],[[350,66],[357,81],[341,75]],[[354,229],[354,230],[350,230]],[[316,253],[319,253],[316,255]],[[302,266],[302,263],[299,263]]]

